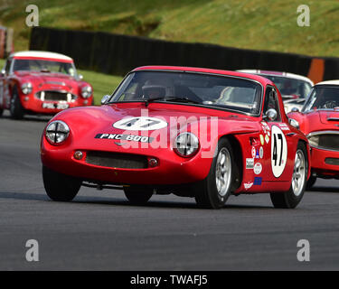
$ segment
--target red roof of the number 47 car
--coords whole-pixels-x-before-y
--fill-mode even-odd
[[[272,85],[273,82],[269,79],[266,79],[264,77],[261,77],[256,74],[250,74],[250,73],[243,73],[243,72],[237,72],[237,71],[231,71],[231,70],[212,70],[212,69],[205,69],[205,68],[197,68],[197,67],[185,67],[185,66],[160,66],[160,65],[152,65],[152,66],[141,66],[133,71],[138,70],[175,70],[175,71],[190,71],[190,72],[201,72],[201,73],[211,73],[211,74],[221,74],[221,75],[228,75],[228,76],[235,76],[235,77],[241,77],[246,79],[252,79],[255,81],[259,81],[261,84],[266,85],[270,84]]]

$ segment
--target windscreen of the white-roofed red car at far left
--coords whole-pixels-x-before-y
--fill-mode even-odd
[[[72,77],[76,76],[76,70],[73,63],[62,61],[46,61],[38,59],[14,60],[13,70],[53,72],[68,74]]]

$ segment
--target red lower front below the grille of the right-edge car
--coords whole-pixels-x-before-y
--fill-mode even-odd
[[[339,178],[339,152],[312,147],[311,166],[312,172],[320,177]]]

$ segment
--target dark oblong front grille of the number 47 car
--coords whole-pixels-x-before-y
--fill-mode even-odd
[[[137,154],[116,154],[90,151],[86,155],[86,163],[119,169],[146,169],[147,157]]]

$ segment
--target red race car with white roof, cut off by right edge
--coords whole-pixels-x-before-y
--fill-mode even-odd
[[[339,80],[317,83],[301,112],[288,114],[311,146],[311,188],[316,178],[339,179]]]

